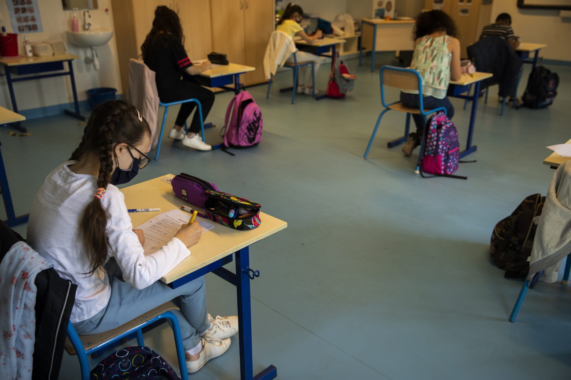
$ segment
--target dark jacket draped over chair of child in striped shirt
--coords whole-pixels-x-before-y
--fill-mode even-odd
[[[509,42],[489,36],[469,45],[467,49],[468,58],[473,59],[477,71],[491,72],[494,75],[482,80],[481,88],[498,84],[499,96],[513,96],[509,91],[523,62]]]

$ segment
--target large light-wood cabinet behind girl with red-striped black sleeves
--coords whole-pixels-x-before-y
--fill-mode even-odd
[[[272,0],[111,0],[124,95],[129,59],[140,58],[140,47],[160,5],[178,13],[188,58],[204,59],[212,51],[227,54],[232,63],[256,68],[242,76],[244,84],[266,81],[263,61],[274,30]]]

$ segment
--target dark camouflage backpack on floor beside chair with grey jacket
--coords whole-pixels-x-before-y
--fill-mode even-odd
[[[537,225],[533,218],[541,215],[545,197],[529,195],[512,215],[500,220],[494,227],[490,241],[490,254],[498,268],[504,269],[506,279],[521,279],[529,272],[529,256]]]

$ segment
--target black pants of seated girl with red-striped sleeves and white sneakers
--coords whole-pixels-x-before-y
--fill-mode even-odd
[[[160,88],[158,87],[160,101],[163,103],[170,103],[171,101],[179,101],[186,99],[196,99],[200,102],[202,107],[202,121],[206,120],[206,116],[210,112],[212,105],[214,105],[214,92],[202,87],[201,85],[192,81],[192,76],[183,75],[183,80],[175,88]],[[196,103],[183,103],[180,105],[180,111],[176,116],[176,125],[183,126],[192,110],[196,107]],[[188,132],[200,133],[200,117],[198,112],[195,112],[192,117],[192,122],[188,128]]]

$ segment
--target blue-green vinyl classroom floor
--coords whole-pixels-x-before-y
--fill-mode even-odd
[[[363,160],[381,111],[378,69],[395,63],[379,54],[371,73],[369,59],[361,68],[357,60],[347,62],[358,79],[344,100],[299,95],[291,105],[290,95],[278,91],[291,85],[290,72],[278,74],[269,100],[266,85],[249,88],[263,113],[259,146],[231,157],[165,137],[159,161],[133,182],[184,171],[288,222],[251,248],[251,268],[260,271],[251,283],[256,373],[273,364],[279,379],[571,378],[571,288],[540,282],[511,323],[522,283],[505,280],[489,259],[494,224],[527,195],[546,193],[554,171],[542,165],[545,146],[571,138],[571,68],[550,67],[560,85],[547,109],[506,109],[501,117],[497,87],[490,89],[488,104],[478,104],[478,150],[469,156],[477,162],[461,164],[458,173],[468,175],[461,181],[420,178],[413,174],[417,151],[407,158],[400,148],[387,149],[403,132],[402,113],[385,115]],[[328,67],[322,68],[323,91]],[[388,90],[387,99],[397,96]],[[230,99],[231,93],[216,95],[208,120],[222,125]],[[470,112],[463,101],[452,103],[464,145]],[[175,116],[170,113],[167,128]],[[25,125],[33,136],[10,137],[2,129],[17,214],[30,210],[43,179],[70,156],[83,130],[63,115]],[[210,130],[207,141],[219,130]],[[15,229],[25,234],[26,226]],[[210,312],[235,314],[235,288],[206,278]],[[145,338],[178,370],[168,325]],[[65,353],[60,379],[78,378],[77,358]],[[224,356],[190,378],[238,379],[237,337]]]

